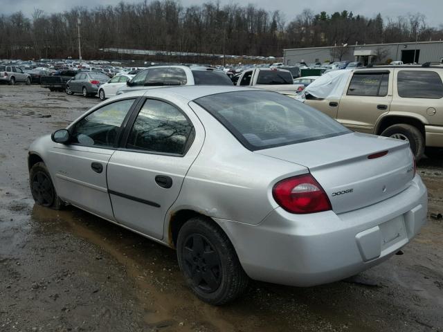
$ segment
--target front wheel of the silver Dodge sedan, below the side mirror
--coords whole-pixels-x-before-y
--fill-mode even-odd
[[[64,207],[63,201],[55,192],[55,187],[46,165],[35,163],[29,171],[29,186],[33,199],[38,205],[60,210]]]

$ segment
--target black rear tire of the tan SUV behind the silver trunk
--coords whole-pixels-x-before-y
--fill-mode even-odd
[[[386,128],[381,136],[408,140],[410,149],[413,151],[415,160],[420,160],[424,154],[424,138],[422,133],[410,124],[394,124]]]

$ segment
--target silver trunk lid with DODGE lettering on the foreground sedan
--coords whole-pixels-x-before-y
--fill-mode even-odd
[[[388,153],[379,158],[368,158],[381,151]],[[405,190],[414,177],[413,154],[407,143],[363,133],[255,153],[307,167],[327,193],[336,213],[388,199]]]

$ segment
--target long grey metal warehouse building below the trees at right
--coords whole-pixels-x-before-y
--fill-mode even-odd
[[[443,42],[408,42],[392,44],[340,45],[310,48],[287,48],[283,50],[284,64],[291,66],[297,62],[334,62],[342,60],[371,62],[403,61],[443,62]],[[415,57],[415,61],[414,61]]]

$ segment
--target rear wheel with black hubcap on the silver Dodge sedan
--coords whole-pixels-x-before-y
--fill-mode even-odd
[[[177,239],[177,259],[192,292],[209,304],[231,302],[248,286],[249,278],[233,244],[206,217],[197,216],[182,226]]]

